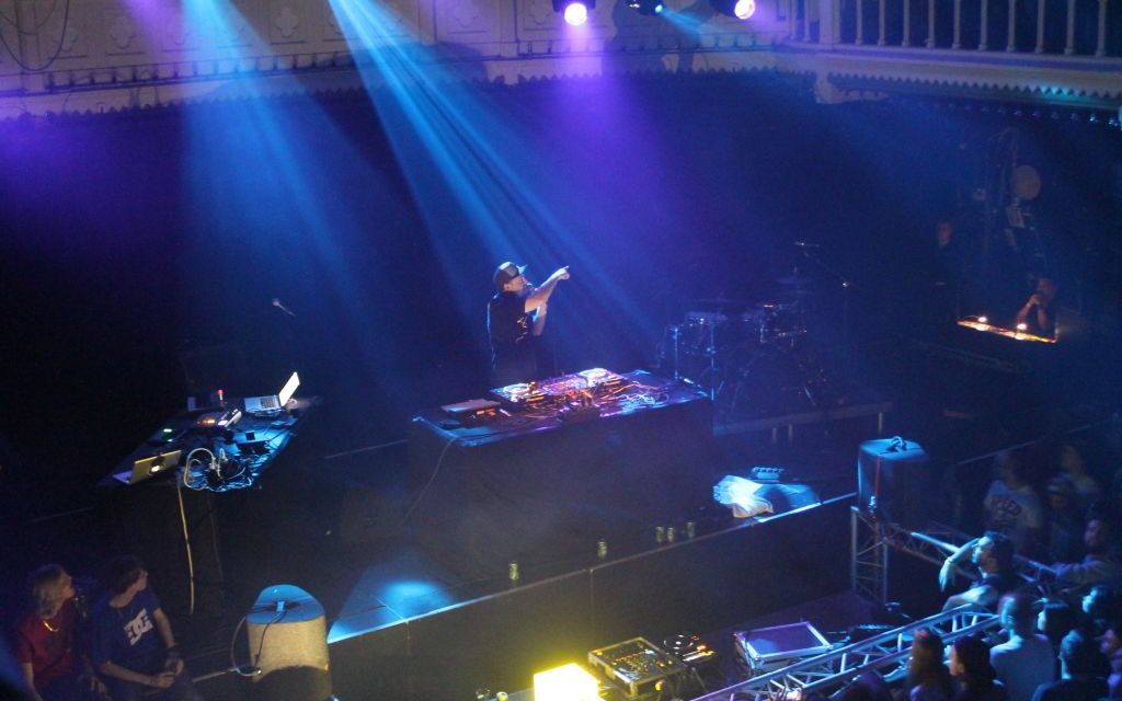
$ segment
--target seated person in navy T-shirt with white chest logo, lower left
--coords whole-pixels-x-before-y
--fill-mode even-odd
[[[107,587],[91,616],[92,657],[114,701],[139,701],[153,690],[158,699],[199,701],[140,561],[123,555],[110,562]]]

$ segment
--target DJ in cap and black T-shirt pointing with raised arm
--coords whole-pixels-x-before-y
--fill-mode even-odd
[[[490,387],[537,379],[537,336],[545,329],[546,304],[569,267],[558,268],[540,287],[523,275],[526,266],[504,262],[495,269],[498,292],[487,303],[487,333],[491,344]]]

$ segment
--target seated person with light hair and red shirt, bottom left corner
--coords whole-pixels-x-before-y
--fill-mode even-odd
[[[34,701],[85,701],[102,698],[104,685],[79,647],[74,579],[58,564],[27,578],[31,610],[16,626],[16,662]]]

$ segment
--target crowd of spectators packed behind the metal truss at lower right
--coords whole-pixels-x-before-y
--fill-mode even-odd
[[[980,509],[985,531],[948,554],[939,583],[949,590],[944,610],[992,611],[1000,631],[948,645],[920,628],[905,666],[866,673],[835,698],[1122,698],[1122,470],[1105,458],[1112,451],[1096,449],[1064,437],[994,454]],[[971,583],[955,588],[957,575]]]

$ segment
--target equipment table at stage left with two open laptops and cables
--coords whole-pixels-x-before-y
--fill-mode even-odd
[[[316,399],[294,403],[226,426],[208,423],[232,415],[226,407],[173,416],[98,483],[110,552],[144,560],[168,611],[218,615],[233,583],[258,584],[246,572],[264,570],[255,557],[282,511],[276,495],[260,496],[260,480]],[[136,483],[119,479],[154,455],[166,456],[157,473]]]

